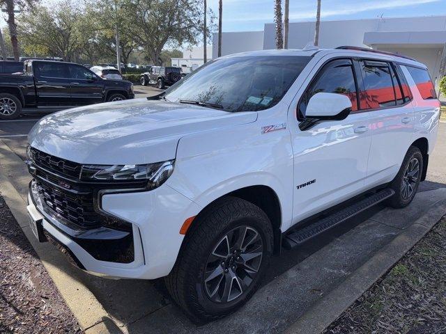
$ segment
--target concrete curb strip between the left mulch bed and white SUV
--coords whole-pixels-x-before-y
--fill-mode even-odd
[[[23,170],[26,171],[26,174]],[[17,170],[18,169],[18,170]],[[17,172],[28,175],[26,166],[17,155],[11,152],[10,148],[0,141],[0,191],[1,196],[8,205],[10,212],[22,228],[26,238],[40,260],[42,261],[49,276],[54,281],[57,289],[66,301],[68,308],[79,322],[79,326],[86,330],[100,324],[104,319],[109,319],[109,315],[95,298],[91,291],[82,283],[81,272],[73,270],[65,257],[49,245],[41,244],[36,240],[28,225],[26,214],[26,200],[13,186],[13,177]],[[70,275],[68,275],[68,272]],[[74,275],[72,275],[74,273]],[[96,326],[95,326],[96,327]],[[94,328],[94,327],[93,327]],[[93,330],[93,328],[91,328]],[[98,328],[99,329],[99,328]],[[88,331],[88,333],[99,333],[98,331]]]

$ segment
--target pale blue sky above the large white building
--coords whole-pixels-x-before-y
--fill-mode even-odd
[[[222,0],[223,31],[260,31],[274,19],[274,0]],[[283,3],[282,0],[282,8]],[[316,0],[289,0],[290,22],[314,21]],[[218,15],[218,0],[208,0]],[[282,10],[283,11],[283,10]],[[322,0],[321,19],[446,15],[446,0]]]

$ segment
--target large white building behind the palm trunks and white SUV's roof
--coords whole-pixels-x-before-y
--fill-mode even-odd
[[[289,24],[289,48],[302,49],[314,40],[315,22]],[[217,58],[218,34],[213,35]],[[322,21],[319,47],[371,47],[417,59],[429,67],[433,80],[445,74],[446,15]],[[222,56],[243,51],[275,49],[275,24],[263,31],[222,33]]]

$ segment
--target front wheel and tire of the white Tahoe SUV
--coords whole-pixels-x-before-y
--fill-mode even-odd
[[[232,241],[242,234],[242,246],[238,248]],[[167,289],[193,321],[228,315],[259,287],[272,244],[272,225],[259,207],[229,196],[217,200],[192,223],[174,269],[165,278]],[[240,252],[234,253],[233,248]],[[215,275],[213,279],[209,273]],[[229,287],[227,278],[232,285],[225,293],[224,287]]]

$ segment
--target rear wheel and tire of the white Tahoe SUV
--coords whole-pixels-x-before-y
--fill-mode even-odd
[[[423,155],[420,149],[410,146],[397,176],[390,184],[390,189],[393,189],[395,194],[387,201],[388,205],[401,208],[412,202],[420,185],[423,163]]]

